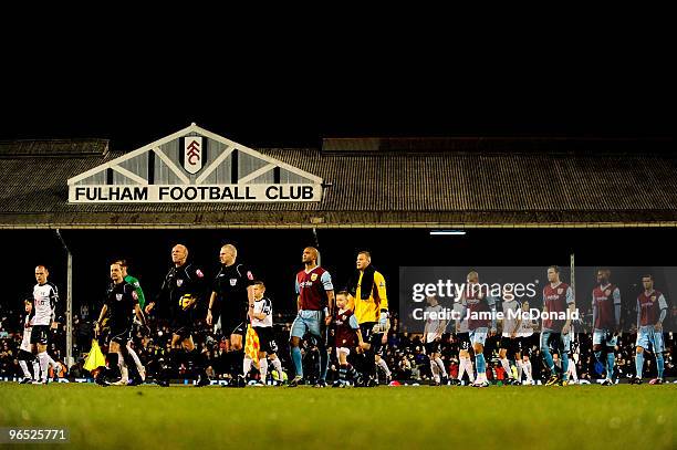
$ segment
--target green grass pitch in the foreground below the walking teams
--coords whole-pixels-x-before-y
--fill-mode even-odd
[[[677,385],[0,384],[0,427],[67,427],[77,449],[675,449],[676,414]]]

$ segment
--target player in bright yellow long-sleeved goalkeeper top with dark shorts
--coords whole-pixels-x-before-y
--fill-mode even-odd
[[[376,386],[376,354],[389,328],[385,278],[372,265],[367,251],[357,253],[356,271],[348,282],[350,303],[367,344],[358,370],[366,386]]]

